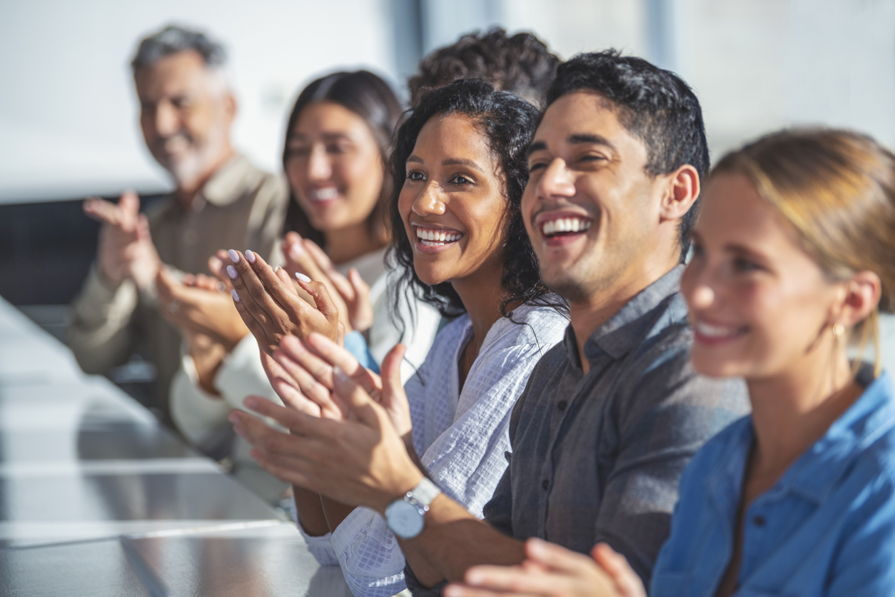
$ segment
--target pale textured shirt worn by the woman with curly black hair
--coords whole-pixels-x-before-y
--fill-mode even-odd
[[[562,321],[559,316],[549,319],[550,324]],[[539,321],[533,324],[538,327]],[[558,332],[539,329],[540,342],[535,342],[517,324],[500,320],[492,329],[496,337],[473,363],[458,402],[456,395],[451,395],[452,384],[448,381],[450,376],[456,378],[456,360],[452,358],[456,345],[440,342],[440,337],[432,349],[433,356],[439,358],[427,361],[421,371],[426,383],[416,383],[418,378],[414,378],[408,384],[408,390],[415,388],[414,394],[421,394],[411,401],[411,412],[415,410],[416,414],[414,427],[428,417],[444,430],[426,447],[422,464],[432,481],[473,516],[482,517],[482,508],[507,468],[505,453],[510,449],[508,428],[513,405],[541,354],[559,341],[564,328],[558,326]],[[462,331],[462,326],[454,328],[452,324],[442,333],[453,334],[456,344],[464,338]],[[440,407],[420,408],[433,404]],[[331,542],[354,595],[390,596],[405,588],[404,554],[375,511],[355,508],[333,531]]]

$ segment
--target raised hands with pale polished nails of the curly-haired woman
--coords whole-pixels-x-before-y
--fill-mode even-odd
[[[261,350],[274,354],[282,339],[292,335],[307,337],[311,332],[337,340],[339,337],[338,309],[332,302],[327,287],[312,282],[309,277],[298,278],[298,286],[311,295],[316,307],[304,301],[295,291],[285,269],[275,272],[258,253],[227,252],[230,264],[227,277],[233,284],[236,311]]]

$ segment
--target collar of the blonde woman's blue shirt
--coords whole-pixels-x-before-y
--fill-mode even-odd
[[[864,393],[789,467],[778,483],[781,491],[791,490],[821,502],[861,452],[895,427],[895,396],[889,373],[883,371],[873,380],[873,369],[865,365],[857,381],[865,385]]]

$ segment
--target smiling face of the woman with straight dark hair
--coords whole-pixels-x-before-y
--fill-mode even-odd
[[[382,188],[379,145],[361,116],[332,102],[303,108],[286,139],[286,177],[311,226],[362,223]]]

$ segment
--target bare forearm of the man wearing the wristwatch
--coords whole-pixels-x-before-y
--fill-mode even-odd
[[[432,501],[422,533],[399,542],[407,564],[425,586],[460,581],[468,568],[479,564],[515,566],[525,559],[523,542],[499,533],[444,494]]]

